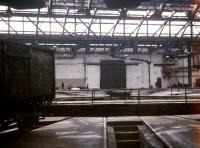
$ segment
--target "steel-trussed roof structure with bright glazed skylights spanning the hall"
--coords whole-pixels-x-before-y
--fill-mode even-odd
[[[98,52],[98,48],[101,48],[100,51],[109,53],[112,48],[118,52],[163,54],[176,44],[185,46],[184,44],[192,45],[192,42],[199,41],[199,12],[196,12],[195,17],[178,15],[182,12],[190,14],[193,10],[191,4],[166,4],[162,11],[170,15],[154,18],[154,11],[159,9],[159,5],[147,3],[134,10],[109,10],[102,0],[50,2],[47,10],[12,10],[12,14],[0,10],[0,23],[6,26],[0,29],[0,37],[28,44],[56,46],[77,53],[83,52],[79,49],[89,47],[90,52]],[[23,23],[23,29],[17,29],[13,25],[15,22]],[[24,29],[27,23],[33,26],[30,31]],[[43,24],[49,28],[42,27]],[[52,26],[55,24],[61,28],[59,31],[53,30]],[[94,29],[95,25],[99,26],[98,30]],[[110,26],[108,31],[105,31],[106,25]],[[74,30],[70,26],[74,26]],[[81,31],[80,26],[84,28]],[[131,28],[130,31],[127,26]],[[157,26],[154,32],[151,32],[152,26]],[[119,33],[120,27],[123,31]],[[142,27],[145,27],[145,32]]]

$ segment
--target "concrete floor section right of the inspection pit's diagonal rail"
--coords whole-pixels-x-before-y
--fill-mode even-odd
[[[187,117],[187,119],[185,118]],[[144,122],[170,148],[199,148],[200,122],[190,116],[142,117]],[[196,118],[197,119],[197,116]]]

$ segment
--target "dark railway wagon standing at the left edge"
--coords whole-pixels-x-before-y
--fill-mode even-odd
[[[0,40],[0,127],[31,127],[55,97],[54,51]]]

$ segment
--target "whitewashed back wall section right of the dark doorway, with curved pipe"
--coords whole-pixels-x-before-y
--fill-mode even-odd
[[[162,75],[162,67],[154,66],[154,64],[162,64],[162,56],[160,55],[136,55],[132,58],[138,58],[143,60],[151,61],[150,64],[150,81],[151,85],[155,88],[155,83],[157,78],[162,79],[162,87],[166,87],[167,84],[164,82]],[[148,64],[144,62],[139,62],[137,66],[127,65],[126,66],[127,75],[127,88],[149,88],[149,68]]]

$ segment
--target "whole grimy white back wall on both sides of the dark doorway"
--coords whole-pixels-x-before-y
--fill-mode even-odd
[[[168,81],[163,78],[162,56],[160,55],[135,55],[132,58],[151,61],[150,82],[155,88],[157,78],[162,79],[162,87],[168,86]],[[61,88],[62,81],[65,88],[85,87],[100,88],[101,60],[120,60],[108,55],[78,55],[73,59],[56,59],[56,86]],[[145,62],[125,60],[126,64],[126,88],[149,88],[148,64]]]

